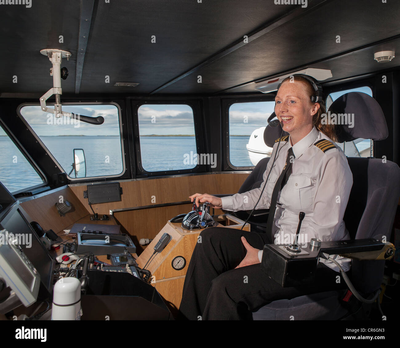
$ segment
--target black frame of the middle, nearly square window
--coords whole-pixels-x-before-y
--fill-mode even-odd
[[[204,139],[203,137],[203,128],[202,128],[202,118],[201,118],[201,105],[198,100],[186,100],[186,99],[157,99],[157,100],[132,100],[132,132],[134,136],[134,151],[136,156],[135,163],[136,168],[138,169],[136,172],[136,177],[156,177],[156,176],[165,176],[165,175],[181,175],[181,174],[191,174],[191,173],[202,173],[206,172],[207,167],[209,165],[200,165],[197,164],[194,168],[191,169],[174,169],[168,171],[153,171],[149,172],[142,166],[142,152],[140,149],[140,132],[139,132],[139,114],[138,110],[142,105],[187,105],[193,111],[193,123],[194,123],[194,138],[196,141],[196,153],[201,154],[204,153],[204,149],[206,149],[206,144],[201,142],[200,139]]]

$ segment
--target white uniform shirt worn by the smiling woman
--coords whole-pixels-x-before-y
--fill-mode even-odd
[[[306,214],[298,235],[297,244],[300,247],[303,243],[310,242],[311,238],[318,238],[321,241],[350,239],[343,216],[353,185],[353,175],[346,156],[335,143],[333,143],[335,147],[326,152],[314,145],[321,139],[327,139],[333,143],[324,133],[313,127],[308,135],[293,145],[295,159],[292,163],[292,174],[278,195],[272,224],[272,232],[277,244],[293,242],[300,211]],[[256,209],[270,207],[276,180],[285,165],[288,149],[292,147],[290,137],[286,140],[280,142],[279,149],[278,142],[274,144],[261,187],[222,197],[222,209],[238,211],[254,208],[278,149],[274,167]],[[261,262],[262,250],[259,251],[258,257]],[[350,269],[350,259],[339,255],[331,257],[342,266],[344,271]],[[320,262],[339,271],[331,261],[320,258]]]

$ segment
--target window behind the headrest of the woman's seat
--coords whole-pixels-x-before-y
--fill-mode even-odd
[[[359,87],[355,89],[348,89],[346,91],[334,92],[326,98],[326,109],[328,110],[332,103],[340,96],[349,92],[363,92],[372,97],[372,90],[367,87]],[[371,139],[356,139],[346,143],[338,143],[346,156],[349,157],[370,157]]]

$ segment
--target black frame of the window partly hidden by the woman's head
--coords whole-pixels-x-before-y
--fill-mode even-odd
[[[225,122],[223,123],[222,126],[222,146],[224,150],[226,151],[224,158],[224,169],[225,170],[232,170],[234,169],[235,171],[247,171],[247,170],[252,170],[256,166],[243,166],[243,167],[237,167],[233,165],[230,161],[230,133],[229,133],[229,109],[233,104],[237,103],[255,103],[255,102],[275,102],[275,94],[270,94],[266,95],[265,97],[247,97],[247,98],[235,98],[235,99],[223,99],[222,100],[222,110],[224,111],[225,114]],[[265,120],[265,126],[268,125],[267,120]],[[225,134],[225,137],[223,136]]]

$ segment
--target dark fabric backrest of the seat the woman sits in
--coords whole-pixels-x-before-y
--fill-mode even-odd
[[[400,195],[400,168],[381,159],[349,157],[353,186],[344,213],[352,239],[390,241]],[[370,293],[382,282],[384,261],[352,260],[352,282],[357,290]]]

